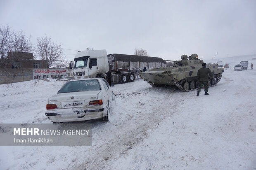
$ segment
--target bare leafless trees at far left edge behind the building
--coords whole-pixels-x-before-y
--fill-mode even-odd
[[[0,66],[6,68],[7,65],[14,61],[22,60],[24,55],[21,52],[31,52],[33,47],[30,42],[30,37],[26,37],[25,33],[20,30],[14,32],[7,26],[0,27]],[[15,56],[8,56],[9,52],[16,52]]]

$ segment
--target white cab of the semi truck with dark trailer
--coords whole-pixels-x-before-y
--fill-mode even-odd
[[[69,67],[75,79],[104,77],[109,70],[107,51],[105,49],[78,51]]]

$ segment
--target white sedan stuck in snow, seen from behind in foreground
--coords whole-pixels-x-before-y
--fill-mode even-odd
[[[45,115],[52,122],[109,121],[110,100],[114,100],[114,93],[105,79],[72,80],[48,99]]]

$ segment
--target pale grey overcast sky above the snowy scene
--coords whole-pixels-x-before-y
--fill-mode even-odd
[[[77,50],[106,49],[179,60],[256,53],[256,0],[0,0],[0,25],[36,44],[51,36],[67,60]]]

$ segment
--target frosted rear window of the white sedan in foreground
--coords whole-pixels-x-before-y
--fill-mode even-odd
[[[70,93],[78,91],[98,91],[101,90],[98,80],[80,80],[66,82],[58,93]]]

